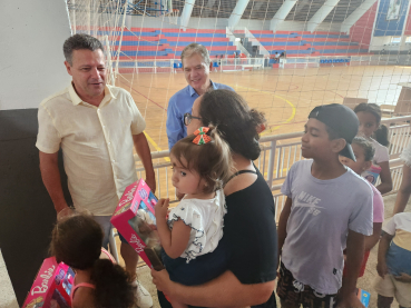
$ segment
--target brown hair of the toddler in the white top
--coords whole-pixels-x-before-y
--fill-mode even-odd
[[[206,181],[203,192],[209,193],[223,188],[233,171],[229,146],[221,137],[216,127],[211,126],[207,136],[212,140],[205,145],[196,145],[196,135],[187,136],[172,148],[172,155],[188,170],[196,171]],[[186,160],[183,163],[182,158]]]

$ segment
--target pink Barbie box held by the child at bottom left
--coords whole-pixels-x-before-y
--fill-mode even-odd
[[[23,308],[69,308],[70,292],[75,282],[75,272],[63,262],[58,264],[55,257],[42,262],[36,280],[31,286]]]

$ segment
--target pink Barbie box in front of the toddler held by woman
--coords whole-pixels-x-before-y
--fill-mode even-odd
[[[153,268],[144,248],[159,248],[158,234],[155,230],[154,206],[157,198],[147,183],[140,179],[126,188],[111,217],[111,223],[137,251],[141,259]]]

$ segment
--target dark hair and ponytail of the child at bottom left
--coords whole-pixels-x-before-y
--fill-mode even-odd
[[[74,269],[91,268],[95,307],[133,307],[135,290],[130,277],[108,259],[99,259],[102,230],[89,215],[75,215],[59,220],[52,230],[50,255]]]

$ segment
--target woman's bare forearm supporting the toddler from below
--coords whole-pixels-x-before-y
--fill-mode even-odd
[[[227,270],[216,279],[200,286],[183,286],[169,280],[166,270],[151,269],[157,289],[174,300],[200,307],[247,307],[264,304],[274,291],[275,280],[243,285]]]

